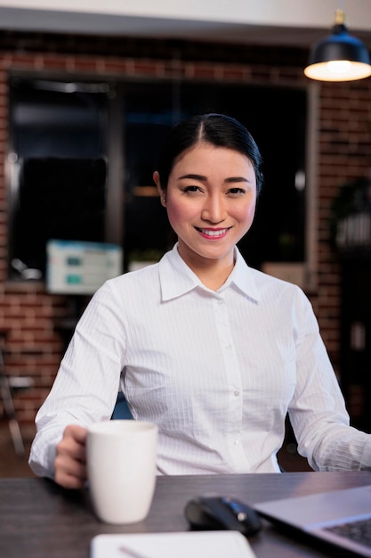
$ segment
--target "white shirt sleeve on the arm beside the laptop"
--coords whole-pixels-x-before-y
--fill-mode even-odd
[[[315,471],[371,470],[371,436],[350,426],[343,393],[309,300],[297,318],[297,384],[289,408],[298,451]]]

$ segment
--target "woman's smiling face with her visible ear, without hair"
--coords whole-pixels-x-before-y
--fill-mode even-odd
[[[229,266],[235,244],[254,220],[256,179],[251,161],[225,147],[200,143],[173,166],[162,203],[188,263],[219,260]],[[203,260],[200,262],[200,260]]]

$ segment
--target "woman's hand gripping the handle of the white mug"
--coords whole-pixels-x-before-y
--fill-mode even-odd
[[[86,434],[83,426],[70,424],[56,447],[54,480],[64,488],[84,488],[86,482]]]

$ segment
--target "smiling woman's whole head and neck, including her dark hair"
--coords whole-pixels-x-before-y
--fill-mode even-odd
[[[235,245],[253,223],[261,163],[246,128],[213,113],[175,127],[158,161],[154,180],[181,258],[214,291],[230,275]]]

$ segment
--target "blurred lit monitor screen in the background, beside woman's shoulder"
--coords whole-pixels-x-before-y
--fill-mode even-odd
[[[46,290],[56,294],[93,294],[122,274],[117,244],[50,240],[46,244]]]

